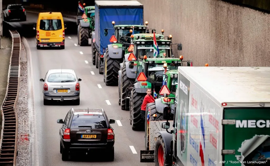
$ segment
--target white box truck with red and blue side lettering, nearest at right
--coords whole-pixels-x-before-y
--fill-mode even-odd
[[[270,165],[269,67],[178,67],[175,102],[156,166]]]

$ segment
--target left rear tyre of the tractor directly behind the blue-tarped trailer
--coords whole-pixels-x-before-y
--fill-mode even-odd
[[[109,50],[108,50],[108,48],[106,48],[105,61],[106,61],[106,62],[104,62],[105,84],[107,86],[117,85],[118,71],[120,70],[120,59],[110,58],[109,57]]]

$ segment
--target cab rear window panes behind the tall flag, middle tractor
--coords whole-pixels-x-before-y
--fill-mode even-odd
[[[158,58],[171,57],[171,48],[168,45],[158,45]],[[138,58],[143,59],[146,55],[147,58],[154,58],[154,46],[153,45],[139,45],[138,46]]]

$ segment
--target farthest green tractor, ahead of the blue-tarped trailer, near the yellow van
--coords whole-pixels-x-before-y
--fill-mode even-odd
[[[80,9],[77,11],[77,38],[78,45],[88,46],[88,40],[92,38],[92,31],[95,29],[95,6],[85,6],[83,9],[84,12],[82,16],[79,15],[82,11]],[[91,44],[92,43],[93,39]]]

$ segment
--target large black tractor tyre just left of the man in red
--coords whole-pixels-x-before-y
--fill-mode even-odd
[[[131,90],[131,104],[132,104],[132,112],[131,112],[131,127],[132,130],[135,131],[143,131],[144,130],[144,119],[141,118],[141,104],[143,103],[144,95],[135,92],[135,88],[133,87]]]

